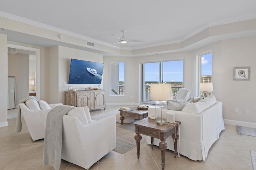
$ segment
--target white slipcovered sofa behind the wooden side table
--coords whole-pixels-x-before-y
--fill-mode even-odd
[[[206,160],[212,144],[225,129],[222,102],[210,95],[199,102],[186,104],[181,111],[168,109],[167,113],[174,113],[175,120],[181,121],[177,151],[191,160]],[[154,115],[154,109],[149,110],[150,115]],[[159,142],[154,139],[154,145]],[[151,144],[150,137],[147,137],[147,143]],[[167,138],[166,143],[167,149],[174,150],[172,137]]]

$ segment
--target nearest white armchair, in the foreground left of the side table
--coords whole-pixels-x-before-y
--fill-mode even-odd
[[[47,114],[41,112],[44,126]],[[95,121],[90,118],[87,106],[76,107],[64,115],[61,151],[63,160],[88,169],[115,147],[114,115]]]

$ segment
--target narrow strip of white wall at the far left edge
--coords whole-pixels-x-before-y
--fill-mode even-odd
[[[0,34],[0,127],[7,126],[7,36]]]

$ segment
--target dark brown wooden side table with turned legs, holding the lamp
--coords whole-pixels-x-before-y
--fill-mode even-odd
[[[137,146],[137,157],[140,158],[140,140],[142,139],[140,134],[147,135],[151,137],[151,147],[153,148],[154,138],[160,139],[159,148],[161,149],[162,156],[162,170],[165,167],[165,150],[167,148],[166,138],[172,136],[174,140],[174,157],[177,156],[177,140],[179,139],[178,135],[178,124],[180,121],[175,121],[175,123],[166,123],[166,125],[157,125],[156,120],[151,120],[149,118],[144,118],[140,121],[132,123],[135,125],[135,137],[136,146]]]

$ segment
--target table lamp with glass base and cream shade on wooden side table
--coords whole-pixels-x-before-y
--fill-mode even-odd
[[[166,101],[172,100],[171,84],[150,84],[150,100],[156,100],[156,123],[166,125]]]

